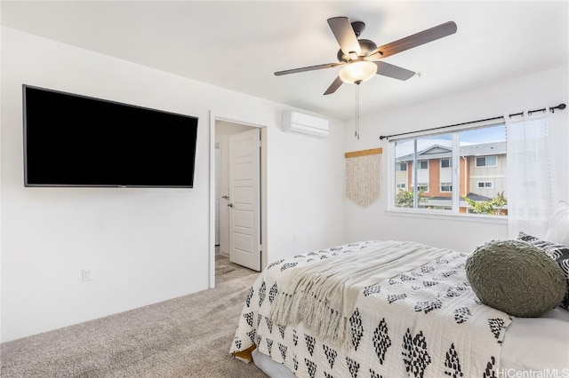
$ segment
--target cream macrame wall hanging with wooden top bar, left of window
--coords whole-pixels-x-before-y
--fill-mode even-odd
[[[380,199],[381,148],[346,153],[346,198],[362,208]]]

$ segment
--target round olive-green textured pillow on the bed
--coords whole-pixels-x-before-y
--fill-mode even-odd
[[[482,303],[524,318],[554,309],[567,290],[559,265],[521,240],[497,240],[477,247],[467,259],[466,276]]]

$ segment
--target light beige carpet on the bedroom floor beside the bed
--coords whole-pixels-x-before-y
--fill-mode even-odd
[[[229,355],[258,274],[214,289],[0,344],[7,377],[266,377]]]

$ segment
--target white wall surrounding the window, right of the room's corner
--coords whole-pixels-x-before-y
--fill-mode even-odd
[[[361,209],[345,200],[346,240],[414,240],[430,245],[472,251],[493,239],[507,239],[504,221],[468,222],[464,217],[403,217],[386,212],[388,206],[388,142],[381,135],[422,130],[461,122],[481,120],[523,110],[557,106],[568,102],[567,67],[528,75],[506,83],[464,91],[446,98],[373,114],[360,120],[360,139],[353,137],[354,120],[346,122],[346,151],[383,147],[381,200]],[[365,85],[365,84],[363,84]],[[361,98],[365,101],[365,98]],[[569,110],[551,115],[556,143],[559,200],[569,199]]]

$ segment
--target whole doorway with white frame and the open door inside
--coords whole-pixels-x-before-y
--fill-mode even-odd
[[[220,257],[257,272],[265,264],[267,154],[266,128],[259,122],[212,114],[210,127],[210,287],[214,287]]]

